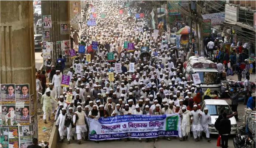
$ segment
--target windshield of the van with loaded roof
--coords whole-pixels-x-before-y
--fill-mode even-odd
[[[201,72],[199,74],[201,84],[219,84],[221,82],[218,72]],[[193,79],[193,78],[192,78]]]

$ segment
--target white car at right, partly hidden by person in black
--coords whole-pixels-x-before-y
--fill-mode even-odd
[[[207,99],[204,100],[201,104],[201,111],[204,111],[204,108],[208,108],[208,114],[211,115],[211,126],[209,126],[209,131],[210,134],[218,134],[218,131],[214,127],[214,123],[216,119],[219,116],[220,110],[221,109],[226,109],[227,115],[232,114],[232,110],[228,103],[225,100],[221,99]],[[237,123],[235,117],[229,118],[231,121],[231,134],[236,134],[236,128],[237,128]]]

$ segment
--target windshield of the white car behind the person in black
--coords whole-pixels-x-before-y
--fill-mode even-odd
[[[224,109],[227,114],[232,114],[229,105],[206,105],[205,108],[208,108],[208,113],[212,116],[218,116],[221,109]]]

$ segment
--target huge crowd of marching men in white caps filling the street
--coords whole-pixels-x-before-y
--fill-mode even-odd
[[[79,30],[81,35],[77,39],[80,40],[79,45],[86,45],[86,52],[76,54],[66,74],[70,76],[68,87],[60,86],[65,67],[62,57],[58,59],[57,66],[46,64],[51,67],[48,68],[51,83],[41,99],[44,122],[47,123],[47,116],[51,120],[51,114],[56,112],[60,140],[63,142],[66,137],[70,144],[70,138],[75,140],[74,134],[77,134],[77,143],[81,144],[81,140],[88,138],[89,127],[85,117],[97,120],[125,114],[179,114],[180,141],[185,141],[189,135],[195,141],[200,141],[204,132],[210,142],[208,126],[211,125],[211,117],[208,109],[200,111],[199,105],[203,89],[200,84],[186,81],[182,74],[183,62],[186,60],[183,48],[177,49],[171,45],[165,32],[153,38],[153,29],[149,28],[151,22],[148,21],[150,4],[144,4],[142,8],[131,4],[130,8],[125,8],[127,13],[124,11],[120,15],[119,7],[116,6],[121,4],[123,2],[120,1],[94,1],[86,5],[82,14],[87,18],[82,20],[89,19],[93,6],[94,13],[98,14],[98,25],[89,27],[85,24]],[[103,8],[108,11],[102,12]],[[134,16],[138,11],[145,13],[143,18],[127,20],[128,14]],[[106,14],[104,19],[100,18],[101,13]],[[88,53],[87,46],[92,41],[98,41],[98,49]],[[134,52],[124,49],[125,41],[134,43]],[[140,49],[143,46],[149,47],[150,59],[141,58]],[[114,53],[114,61],[108,62],[109,52]],[[91,54],[90,61],[86,60],[86,54]],[[115,72],[115,63],[121,63],[122,73]],[[135,63],[134,72],[129,69],[130,63]],[[78,64],[83,67],[80,72],[75,71]],[[108,72],[114,72],[114,81],[110,81]],[[71,103],[66,103],[68,94],[73,96]],[[158,141],[158,138],[153,139]],[[170,137],[166,139],[170,140]],[[129,138],[123,140],[128,141]],[[146,138],[146,142],[149,140]],[[139,142],[142,142],[141,138]]]

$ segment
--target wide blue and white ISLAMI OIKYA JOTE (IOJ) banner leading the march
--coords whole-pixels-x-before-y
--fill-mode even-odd
[[[120,138],[153,138],[178,136],[180,117],[178,114],[163,115],[119,115],[98,120],[89,119],[90,140]]]

